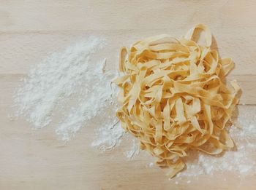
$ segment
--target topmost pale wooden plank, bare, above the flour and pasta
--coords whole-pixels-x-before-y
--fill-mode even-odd
[[[256,1],[1,0],[0,31],[255,28]]]

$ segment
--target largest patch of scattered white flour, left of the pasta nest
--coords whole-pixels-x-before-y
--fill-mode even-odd
[[[40,128],[62,113],[56,133],[69,140],[113,99],[110,82],[115,75],[106,71],[106,59],[96,56],[104,44],[105,39],[91,36],[34,66],[15,93],[17,116],[25,115]]]

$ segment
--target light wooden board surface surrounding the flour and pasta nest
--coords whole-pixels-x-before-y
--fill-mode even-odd
[[[24,118],[10,119],[20,78],[49,52],[104,36],[108,48],[100,56],[115,68],[119,47],[159,33],[181,36],[196,23],[211,28],[222,57],[233,58],[236,69],[228,78],[241,84],[239,107],[255,111],[255,9],[255,0],[0,0],[0,189],[255,189],[255,175],[241,179],[236,173],[176,185],[166,170],[147,167],[154,159],[144,152],[127,161],[130,138],[100,154],[90,147],[94,122],[64,143],[52,126],[33,130]]]

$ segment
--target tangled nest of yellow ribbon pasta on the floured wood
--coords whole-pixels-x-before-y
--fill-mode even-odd
[[[192,40],[197,28],[205,45]],[[239,87],[226,85],[225,76],[234,64],[210,47],[211,32],[196,25],[181,39],[159,35],[121,49],[116,115],[157,165],[170,167],[170,178],[183,170],[191,149],[220,154],[233,147],[226,125]]]

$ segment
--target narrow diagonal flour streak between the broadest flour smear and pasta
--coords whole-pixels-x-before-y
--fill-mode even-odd
[[[57,126],[56,132],[63,135],[63,140],[69,140],[70,134],[78,132],[83,125],[97,116],[103,108],[110,106],[113,101],[113,92],[115,91],[110,86],[113,74],[110,72],[102,74],[105,61],[103,60],[98,66],[97,64],[89,66],[83,79],[86,82],[83,85],[83,88],[86,89],[83,98],[80,98],[78,106],[73,107]],[[102,120],[105,119],[102,118]]]

